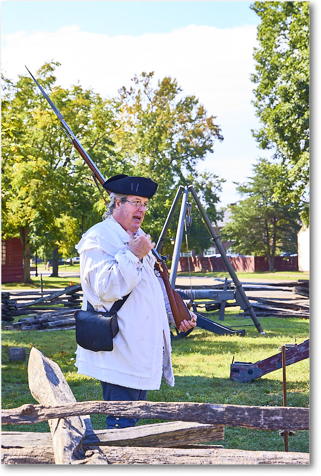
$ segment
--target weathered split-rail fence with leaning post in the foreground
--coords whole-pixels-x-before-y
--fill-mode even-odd
[[[76,402],[58,365],[35,348],[29,355],[28,381],[39,404],[2,410],[2,424],[48,420],[51,434],[2,432],[3,464],[309,464],[308,453],[246,451],[198,444],[223,439],[224,426],[308,429],[308,408],[193,402]],[[90,413],[169,421],[97,431],[91,426]]]

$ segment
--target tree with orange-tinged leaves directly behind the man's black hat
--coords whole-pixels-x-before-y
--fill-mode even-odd
[[[197,164],[213,152],[215,140],[223,140],[215,116],[208,116],[194,96],[182,96],[177,81],[165,77],[153,83],[153,73],[134,76],[129,89],[119,90],[119,122],[116,149],[124,169],[150,177],[158,183],[144,226],[158,239],[178,185],[204,188],[202,199],[217,219],[214,203],[220,191],[219,178],[196,174]],[[125,172],[126,173],[126,172]],[[220,180],[221,182],[222,180]],[[172,220],[172,228],[178,220]],[[169,233],[172,233],[172,228]]]

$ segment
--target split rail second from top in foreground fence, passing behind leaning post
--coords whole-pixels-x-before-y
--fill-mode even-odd
[[[129,428],[93,430],[85,434],[82,446],[157,446],[181,447],[190,443],[219,441],[224,439],[224,427],[185,421],[167,421]],[[3,431],[2,448],[50,445],[50,433]]]

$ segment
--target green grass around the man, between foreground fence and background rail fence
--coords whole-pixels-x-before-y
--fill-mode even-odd
[[[186,338],[172,341],[172,362],[175,386],[162,382],[160,390],[148,391],[151,401],[191,401],[229,403],[235,405],[282,406],[282,370],[270,372],[252,382],[240,383],[229,379],[230,364],[235,361],[256,362],[278,352],[281,345],[299,344],[309,335],[308,320],[259,318],[265,335],[258,334],[251,319],[237,317],[228,310],[223,324],[246,330],[245,337],[218,336],[202,329],[193,330]],[[217,321],[217,313],[206,316]],[[246,325],[246,327],[245,327]],[[244,326],[244,327],[242,327]],[[4,326],[2,325],[2,328]],[[8,347],[24,347],[28,354],[32,346],[58,363],[77,401],[101,400],[100,383],[79,375],[74,367],[76,348],[74,331],[16,331],[2,330],[2,407],[16,408],[24,403],[37,403],[27,382],[27,362],[9,362]],[[287,405],[308,407],[309,359],[286,367]],[[92,415],[95,429],[104,428],[103,415]],[[139,424],[160,420],[141,419]],[[47,422],[33,425],[3,425],[5,431],[49,431]],[[276,431],[225,428],[225,448],[247,450],[284,450],[282,437]],[[289,451],[309,451],[308,431],[297,431],[288,437]]]

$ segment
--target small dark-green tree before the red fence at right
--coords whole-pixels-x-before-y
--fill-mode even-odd
[[[265,256],[269,271],[274,270],[275,255],[297,250],[298,209],[274,198],[275,188],[284,180],[283,173],[283,165],[260,159],[253,177],[247,183],[236,184],[245,198],[232,206],[231,221],[221,231],[221,238],[232,241],[236,253]]]

